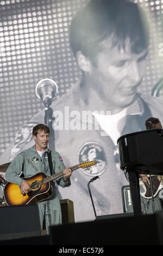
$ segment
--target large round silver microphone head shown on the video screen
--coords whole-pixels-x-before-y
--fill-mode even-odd
[[[49,78],[41,79],[35,88],[37,98],[42,100],[46,108],[52,104],[56,92],[58,92],[58,86],[54,80]]]

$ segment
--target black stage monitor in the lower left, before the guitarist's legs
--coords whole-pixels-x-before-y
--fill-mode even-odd
[[[37,205],[0,207],[0,240],[41,235]]]

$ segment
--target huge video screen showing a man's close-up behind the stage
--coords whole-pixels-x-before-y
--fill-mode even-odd
[[[34,145],[32,129],[46,115],[36,86],[52,79],[51,149],[66,166],[97,160],[59,188],[77,222],[95,219],[87,188],[95,176],[96,214],[123,212],[129,183],[117,139],[145,130],[149,117],[163,122],[163,1],[91,2],[0,1],[0,164]]]

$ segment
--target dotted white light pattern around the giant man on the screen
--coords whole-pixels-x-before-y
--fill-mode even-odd
[[[78,80],[80,70],[70,49],[68,27],[88,2],[0,1],[0,154],[14,140],[18,128],[43,109],[35,94],[37,82],[43,78],[55,80],[59,98]],[[152,34],[146,76],[139,89],[151,94],[163,76],[163,56],[159,54],[163,49],[163,0],[134,2],[147,10]]]

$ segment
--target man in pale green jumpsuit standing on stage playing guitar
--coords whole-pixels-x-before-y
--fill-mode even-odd
[[[69,167],[65,168],[64,162],[58,152],[49,150],[49,128],[45,126],[45,124],[37,124],[33,128],[33,138],[35,145],[18,154],[9,165],[5,173],[7,181],[17,184],[25,197],[28,193],[30,194],[31,187],[29,183],[20,176],[22,168],[24,177],[31,177],[38,172],[45,172],[47,176],[50,176],[51,172],[56,174],[63,171],[64,176],[57,178],[56,182],[61,187],[69,187],[71,185],[70,176],[72,170]],[[52,171],[49,168],[49,152],[51,152],[52,158]],[[43,200],[38,203],[41,228],[45,216],[47,233],[49,233],[50,225],[61,224],[59,192],[54,181],[52,187],[53,193],[51,197],[48,200]]]

